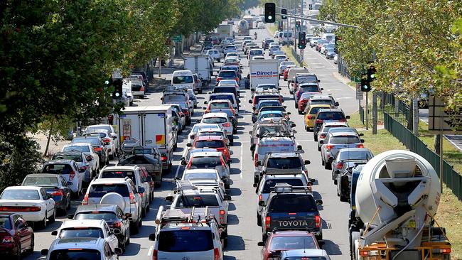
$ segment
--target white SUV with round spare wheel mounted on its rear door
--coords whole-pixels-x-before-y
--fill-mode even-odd
[[[83,197],[82,205],[106,203],[119,205],[125,214],[131,214],[131,229],[134,234],[137,234],[142,225],[142,200],[136,190],[144,193],[144,188],[136,189],[133,180],[128,177],[92,180]]]

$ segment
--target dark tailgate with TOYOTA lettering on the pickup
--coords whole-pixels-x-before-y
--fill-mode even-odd
[[[270,213],[270,229],[315,229],[314,212]]]

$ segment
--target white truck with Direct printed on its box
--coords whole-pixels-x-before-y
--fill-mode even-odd
[[[279,87],[277,60],[250,60],[250,90],[259,84],[275,84]]]

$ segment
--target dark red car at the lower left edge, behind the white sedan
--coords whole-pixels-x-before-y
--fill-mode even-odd
[[[0,254],[20,259],[21,253],[33,252],[33,230],[16,213],[0,215]]]

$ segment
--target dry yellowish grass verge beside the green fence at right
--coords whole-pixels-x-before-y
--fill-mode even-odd
[[[394,136],[385,129],[377,130],[376,135],[372,135],[372,130],[366,131],[365,127],[362,125],[358,112],[350,114],[350,117],[348,124],[364,134],[364,136],[362,136],[362,139],[365,139],[364,146],[370,148],[375,155],[389,150],[407,150],[406,146],[400,143],[398,139],[394,138]],[[424,123],[422,122],[422,124]],[[426,127],[425,124],[423,126]],[[426,129],[428,129],[428,127]],[[419,129],[419,131],[421,134],[425,134],[424,129]],[[428,134],[428,130],[426,134]],[[426,139],[422,139],[422,141],[427,143],[427,146],[433,147],[433,137],[424,136],[424,138]],[[448,141],[446,142],[449,143]],[[447,143],[443,144],[445,156],[446,148],[452,146]],[[446,185],[444,186],[444,193],[441,195],[438,214],[435,220],[441,227],[446,227],[446,234],[452,244],[452,259],[462,259],[462,202],[453,195],[451,190],[446,188]]]

